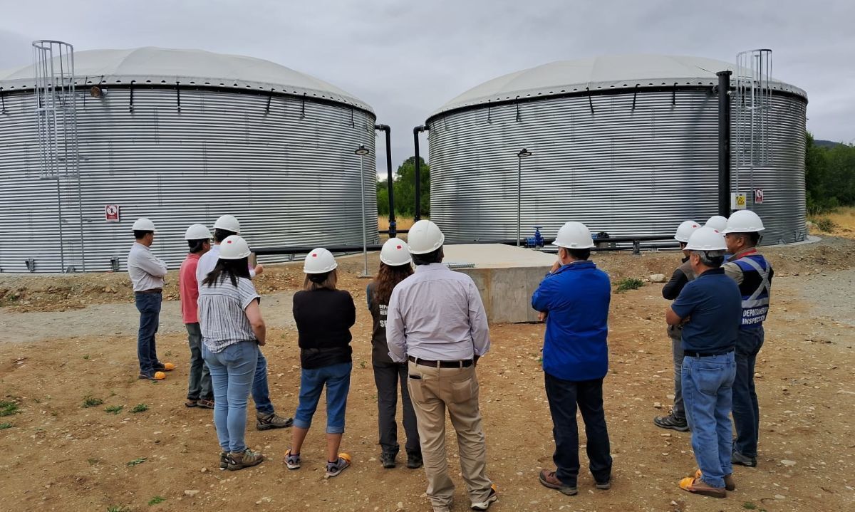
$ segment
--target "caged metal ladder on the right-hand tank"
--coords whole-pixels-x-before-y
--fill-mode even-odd
[[[747,197],[754,205],[754,168],[772,162],[769,121],[772,111],[772,50],[736,54],[734,113],[734,192],[742,191],[740,174],[748,174]],[[741,173],[740,173],[741,172]],[[747,206],[747,205],[746,205]]]

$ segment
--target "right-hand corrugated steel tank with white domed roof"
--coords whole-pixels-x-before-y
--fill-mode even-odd
[[[565,221],[611,236],[667,235],[717,211],[716,71],[694,57],[553,62],[475,87],[428,119],[431,219],[450,242],[551,237]],[[772,162],[754,168],[764,244],[805,238],[805,109],[772,83]],[[734,105],[735,109],[735,105]],[[735,115],[732,116],[735,119]],[[735,130],[734,130],[735,133]],[[517,153],[533,153],[518,162]],[[732,169],[735,185],[736,170]],[[749,192],[740,171],[740,191]]]

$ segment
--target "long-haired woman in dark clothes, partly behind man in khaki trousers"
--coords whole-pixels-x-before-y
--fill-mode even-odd
[[[394,362],[389,356],[386,344],[386,311],[389,297],[395,285],[413,274],[412,256],[407,243],[400,238],[389,238],[380,250],[380,269],[366,289],[369,311],[374,321],[371,332],[371,364],[374,368],[374,385],[377,386],[377,420],[380,427],[380,463],[383,468],[394,468],[398,456],[398,422],[395,411],[398,409],[398,387],[401,389],[401,403],[404,410],[404,432],[407,441],[407,467],[422,467],[422,448],[419,445],[419,431],[416,427],[416,411],[410,401],[407,389],[407,365]]]

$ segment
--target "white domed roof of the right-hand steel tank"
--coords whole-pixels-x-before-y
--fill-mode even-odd
[[[734,63],[692,56],[617,55],[557,61],[523,69],[469,89],[430,116],[453,109],[519,98],[549,97],[573,92],[687,85],[716,85],[716,72]],[[731,83],[734,84],[734,77]],[[773,79],[773,89],[807,97],[798,87]]]

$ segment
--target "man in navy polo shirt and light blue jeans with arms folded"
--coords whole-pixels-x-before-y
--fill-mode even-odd
[[[721,268],[726,249],[716,229],[701,227],[692,233],[686,250],[697,277],[665,311],[668,325],[683,324],[683,401],[699,468],[693,477],[680,480],[680,488],[710,497],[726,497],[735,489],[728,414],[740,291]]]

